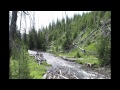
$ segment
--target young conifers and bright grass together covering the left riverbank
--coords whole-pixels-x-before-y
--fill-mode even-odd
[[[46,66],[50,65],[45,62],[38,65],[34,58],[29,57],[24,41],[16,38],[11,43],[10,79],[41,79],[46,72]]]

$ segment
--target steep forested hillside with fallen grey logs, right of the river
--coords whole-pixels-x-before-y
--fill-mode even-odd
[[[96,58],[101,36],[111,38],[111,12],[66,16],[66,22],[62,19],[50,24],[47,33],[48,52],[74,58]]]

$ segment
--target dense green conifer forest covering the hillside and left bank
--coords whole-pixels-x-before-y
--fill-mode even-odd
[[[38,32],[33,25],[29,34],[26,34],[26,30],[21,34],[17,28],[17,13],[12,11],[9,19],[10,78],[33,78],[31,74],[34,72],[29,68],[35,63],[30,65],[27,50],[45,51],[58,56],[64,54],[74,58],[96,57],[100,66],[111,65],[110,11],[91,11],[76,14],[73,18],[66,15],[66,19],[58,19],[56,23],[53,21]],[[27,15],[27,12],[21,13]]]

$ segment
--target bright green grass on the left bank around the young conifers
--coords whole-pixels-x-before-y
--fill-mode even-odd
[[[29,56],[26,56],[26,60],[28,61],[27,65],[24,65],[24,62],[21,64],[21,75],[24,76],[24,79],[42,79],[47,71],[46,67],[51,66],[46,62],[42,62],[41,65],[38,65],[36,60]],[[10,59],[10,70],[12,72],[12,79],[19,79],[19,60]],[[27,73],[27,75],[25,75],[25,73]]]

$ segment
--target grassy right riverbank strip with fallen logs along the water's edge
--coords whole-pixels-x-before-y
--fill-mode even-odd
[[[89,58],[88,57],[74,58],[74,57],[70,57],[70,56],[67,56],[66,54],[61,54],[61,53],[59,53],[59,54],[54,53],[54,55],[64,59],[65,61],[74,62],[74,63],[78,63],[78,64],[82,65],[81,69],[83,69],[87,72],[93,71],[93,72],[97,72],[97,73],[105,75],[106,77],[111,78],[110,66],[100,67],[100,63],[99,63],[98,59],[93,56],[90,56]],[[90,63],[91,65],[94,64],[94,66],[87,67],[87,66],[85,66],[86,62]]]

